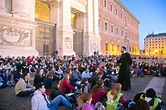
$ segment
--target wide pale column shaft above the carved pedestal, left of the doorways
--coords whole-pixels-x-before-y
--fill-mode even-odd
[[[12,0],[13,16],[35,18],[35,0]]]

